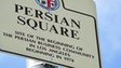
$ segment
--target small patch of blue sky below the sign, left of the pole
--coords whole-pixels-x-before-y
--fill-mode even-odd
[[[0,52],[0,68],[26,68],[26,59]]]

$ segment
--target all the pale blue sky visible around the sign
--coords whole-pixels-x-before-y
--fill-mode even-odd
[[[103,68],[121,68],[121,0],[95,2]],[[26,58],[0,53],[0,68],[26,68]]]

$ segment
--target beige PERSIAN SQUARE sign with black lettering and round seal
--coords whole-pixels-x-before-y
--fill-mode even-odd
[[[92,0],[0,0],[0,51],[65,68],[102,68]]]

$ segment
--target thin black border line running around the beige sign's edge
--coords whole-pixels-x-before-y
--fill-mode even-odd
[[[70,12],[75,12],[75,13],[78,13],[78,14],[81,14],[81,15],[85,15],[85,16],[92,17],[94,19],[95,35],[96,35],[96,42],[97,42],[97,51],[98,51],[98,63],[99,63],[99,68],[102,68],[100,50],[99,50],[99,42],[98,42],[98,32],[97,32],[97,24],[96,24],[97,22],[96,22],[96,18],[93,15],[90,15],[90,14],[86,14],[86,13],[83,13],[83,12],[78,12],[78,11],[68,9],[68,8],[65,6],[64,0],[60,0],[60,1],[62,1],[62,4],[63,4],[63,8],[65,10],[70,11]],[[60,66],[65,66],[65,67],[69,67],[69,68],[75,68],[75,67],[70,67],[70,66],[67,66],[67,65],[63,65],[63,64],[58,64],[58,63],[53,63],[53,62],[49,62],[49,60],[45,60],[45,59],[41,59],[41,58],[37,58],[37,57],[31,57],[31,56],[18,54],[18,53],[11,52],[11,51],[5,51],[5,50],[2,50],[2,49],[0,49],[0,51],[6,52],[6,53],[11,53],[11,54],[21,55],[21,56],[25,56],[25,57],[29,57],[29,58],[33,58],[33,59],[38,59],[38,60],[43,60],[43,62],[52,63],[52,64],[55,64],[55,65],[60,65]]]

